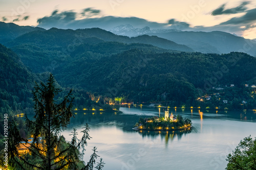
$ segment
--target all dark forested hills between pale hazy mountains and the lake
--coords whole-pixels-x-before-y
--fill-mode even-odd
[[[10,25],[7,31],[13,32],[12,27],[19,29]],[[154,34],[172,33],[184,32]],[[99,28],[21,27],[19,34],[2,35],[6,39],[1,43],[7,46],[0,46],[4,111],[31,108],[33,82],[45,81],[42,75],[49,72],[59,87],[74,89],[75,106],[80,109],[103,108],[99,101],[105,104],[117,97],[124,102],[168,101],[171,106],[242,109],[242,101],[248,102],[246,108],[256,106],[253,89],[244,87],[256,84],[256,58],[245,53],[198,53],[155,35],[128,37]],[[197,101],[206,93],[219,92],[212,87],[230,84],[235,87],[222,88],[219,100]],[[222,100],[228,100],[228,105]]]

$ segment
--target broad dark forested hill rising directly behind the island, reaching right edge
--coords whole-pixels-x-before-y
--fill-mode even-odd
[[[253,89],[245,88],[244,84],[255,83],[256,59],[244,53],[159,54],[129,50],[102,58],[74,58],[56,74],[63,86],[90,89],[112,97],[122,96],[125,102],[169,101],[172,106],[199,106],[204,105],[197,101],[202,95],[224,91],[231,96],[224,94],[222,100],[255,102],[250,95]],[[216,83],[208,83],[215,79]],[[230,84],[235,87],[227,88]],[[212,87],[224,88],[212,91]],[[238,92],[237,88],[245,92]],[[222,105],[222,100],[216,104]]]

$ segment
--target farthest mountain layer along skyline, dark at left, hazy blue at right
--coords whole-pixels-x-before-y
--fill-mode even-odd
[[[41,33],[45,32],[45,35],[51,34],[52,29],[50,30],[51,31],[47,31],[38,27],[24,27],[17,26],[14,23],[0,22],[0,43],[7,43],[21,35],[33,31],[41,31]],[[69,30],[69,32],[71,33],[72,31]],[[110,32],[93,28],[73,30],[72,34],[76,36],[77,34],[81,34],[79,37],[82,37],[82,39],[84,39],[84,37],[93,37],[94,39],[98,38],[104,41],[151,44],[160,48],[175,51],[217,54],[243,52],[254,57],[256,56],[255,40],[245,39],[243,37],[221,31],[193,32],[175,29],[151,30],[149,27],[140,29],[134,28],[132,25],[120,25],[111,29]],[[25,36],[22,38],[26,39]],[[98,41],[99,40],[97,40],[97,42]]]

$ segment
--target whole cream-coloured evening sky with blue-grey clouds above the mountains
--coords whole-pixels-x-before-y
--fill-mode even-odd
[[[0,21],[20,26],[225,31],[256,38],[256,1],[237,0],[0,0]]]

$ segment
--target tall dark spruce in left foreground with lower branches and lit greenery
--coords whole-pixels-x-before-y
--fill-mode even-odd
[[[20,141],[28,142],[27,139],[19,135],[16,123],[12,122],[10,127],[10,164],[15,169],[93,169],[96,154],[96,148],[89,162],[84,165],[81,161],[82,154],[87,145],[90,128],[85,125],[81,131],[82,138],[78,139],[76,129],[72,132],[72,140],[67,142],[65,138],[60,136],[61,130],[65,129],[70,122],[70,118],[74,116],[72,110],[72,90],[63,98],[63,101],[57,103],[54,97],[61,91],[56,88],[56,82],[51,74],[47,83],[35,85],[33,91],[34,99],[34,120],[30,120],[26,115],[26,124],[30,135],[33,137],[29,147],[29,154],[19,156],[16,145]],[[79,150],[82,149],[82,152]],[[28,159],[29,155],[33,158]],[[98,169],[103,166],[102,160],[98,164]]]

